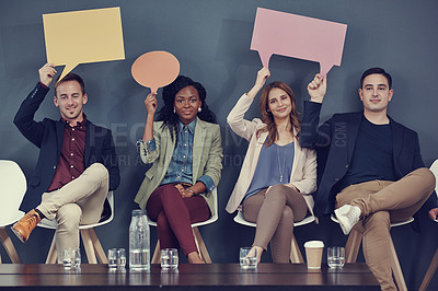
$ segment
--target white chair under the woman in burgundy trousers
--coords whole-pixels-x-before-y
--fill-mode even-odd
[[[200,255],[200,258],[206,264],[211,264],[211,258],[210,258],[210,255],[208,254],[207,247],[206,247],[206,245],[204,243],[203,236],[200,235],[198,226],[207,225],[207,224],[214,223],[215,221],[218,220],[219,216],[218,216],[218,191],[217,191],[217,188],[215,188],[211,194],[214,196],[214,211],[215,211],[215,214],[211,218],[209,218],[208,220],[206,220],[206,221],[193,223],[191,225],[192,226],[193,236],[195,237],[196,247],[198,248],[198,253]],[[148,223],[151,226],[157,226],[157,222],[149,220],[149,218],[148,218]],[[155,245],[155,249],[153,252],[151,264],[160,264],[160,259],[161,259],[160,240],[158,240],[157,241],[157,245]]]

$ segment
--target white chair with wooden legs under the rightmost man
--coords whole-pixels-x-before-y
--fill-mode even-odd
[[[332,220],[338,223],[336,217],[332,214]],[[404,224],[408,224],[414,221],[414,218],[410,218],[406,221],[391,223],[391,229],[395,226],[402,226]],[[345,263],[356,263],[357,255],[359,253],[360,244],[362,242],[362,233],[356,231],[355,229],[348,235],[347,243],[345,244]],[[399,257],[395,252],[394,243],[390,236],[390,246],[391,246],[391,268],[392,276],[394,277],[395,284],[399,290],[407,291],[406,282],[404,281],[402,267],[400,267]]]

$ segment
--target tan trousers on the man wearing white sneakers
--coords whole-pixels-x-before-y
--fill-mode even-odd
[[[348,186],[336,196],[336,208],[354,205],[361,210],[355,230],[364,233],[365,260],[382,290],[397,290],[391,270],[391,222],[411,218],[434,189],[434,174],[422,167],[397,182],[365,182]]]

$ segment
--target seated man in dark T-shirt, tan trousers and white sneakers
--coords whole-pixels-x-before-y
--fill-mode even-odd
[[[364,110],[335,114],[319,127],[326,78],[315,75],[308,86],[300,144],[321,153],[315,214],[334,211],[345,234],[351,228],[362,232],[364,256],[381,289],[396,290],[390,223],[407,220],[425,202],[429,217],[437,218],[437,201],[430,196],[435,176],[424,166],[417,133],[387,115],[391,75],[371,68],[360,81]]]

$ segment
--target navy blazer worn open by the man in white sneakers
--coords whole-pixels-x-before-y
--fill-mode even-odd
[[[314,194],[314,212],[332,213],[338,189],[336,183],[347,173],[355,150],[357,132],[362,112],[335,114],[318,127],[322,104],[304,102],[300,144],[318,150],[319,187]],[[418,135],[389,117],[392,132],[393,162],[395,178],[400,179],[412,171],[424,167],[419,151]],[[429,209],[437,207],[433,194],[426,201]],[[425,205],[426,205],[425,203]]]

